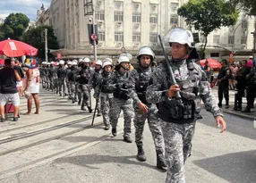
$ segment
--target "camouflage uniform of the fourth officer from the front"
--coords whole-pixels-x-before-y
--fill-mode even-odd
[[[103,71],[98,85],[95,87],[95,96],[98,98],[100,103],[100,111],[103,116],[103,123],[106,129],[109,129],[109,110],[113,100],[113,93],[111,90],[107,90],[107,83],[112,76],[112,72]]]

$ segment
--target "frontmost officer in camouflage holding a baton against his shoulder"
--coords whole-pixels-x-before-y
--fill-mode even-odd
[[[183,28],[172,29],[169,35],[171,70],[175,81],[170,78],[167,64],[163,62],[152,74],[152,84],[146,92],[149,103],[158,106],[158,117],[162,126],[166,147],[166,183],[184,183],[184,163],[192,150],[195,122],[199,118],[200,98],[207,111],[212,112],[217,125],[226,130],[226,122],[218,107],[209,83],[202,79],[201,67],[186,59],[192,49],[192,32]],[[177,95],[179,92],[179,95]]]

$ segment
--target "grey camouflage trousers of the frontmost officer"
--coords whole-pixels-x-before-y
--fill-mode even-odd
[[[166,146],[166,183],[185,183],[184,163],[191,154],[195,122],[160,122]]]

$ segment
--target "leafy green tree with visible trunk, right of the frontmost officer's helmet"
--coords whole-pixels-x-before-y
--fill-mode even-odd
[[[178,15],[205,37],[201,57],[207,46],[209,33],[222,26],[235,25],[239,12],[225,0],[190,0],[178,9]]]

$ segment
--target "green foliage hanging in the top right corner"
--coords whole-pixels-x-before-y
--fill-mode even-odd
[[[255,0],[230,0],[230,3],[243,10],[249,15],[256,16],[256,1]]]

